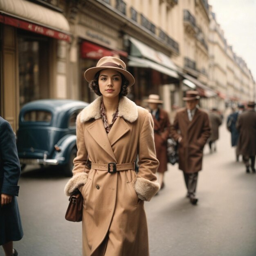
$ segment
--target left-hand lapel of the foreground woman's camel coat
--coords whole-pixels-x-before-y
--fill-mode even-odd
[[[97,119],[92,124],[90,124],[86,129],[90,133],[92,138],[99,144],[99,146],[101,146],[101,148],[103,148],[103,150],[105,150],[106,153],[108,153],[108,155],[110,155],[110,157],[112,157],[112,159],[115,162],[117,162],[117,159],[110,145],[107,132],[104,128],[103,121],[101,119]]]

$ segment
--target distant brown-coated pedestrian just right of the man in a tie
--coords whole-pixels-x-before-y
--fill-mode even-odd
[[[217,108],[212,108],[209,113],[211,123],[211,136],[209,137],[208,144],[210,153],[217,151],[216,141],[219,139],[219,127],[222,124],[222,118]],[[214,148],[214,149],[213,149]]]

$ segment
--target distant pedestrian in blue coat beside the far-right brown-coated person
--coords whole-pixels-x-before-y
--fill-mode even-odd
[[[238,116],[243,113],[245,110],[245,105],[238,104],[238,111],[234,111],[227,117],[227,129],[231,132],[231,146],[235,147],[238,143],[239,131],[236,129],[236,122],[238,120]],[[239,154],[236,148],[236,162],[239,161]]]

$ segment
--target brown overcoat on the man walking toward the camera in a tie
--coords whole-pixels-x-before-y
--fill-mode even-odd
[[[209,116],[197,108],[192,121],[189,121],[186,108],[178,110],[171,126],[171,136],[179,144],[179,169],[185,173],[202,170],[203,148],[211,134]]]

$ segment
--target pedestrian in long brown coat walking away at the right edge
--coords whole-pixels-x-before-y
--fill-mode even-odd
[[[246,166],[246,173],[250,172],[249,159],[251,160],[252,172],[255,173],[255,155],[256,155],[256,112],[255,103],[249,101],[247,110],[238,117],[236,124],[237,130],[240,132],[237,150],[243,155],[243,161]]]

